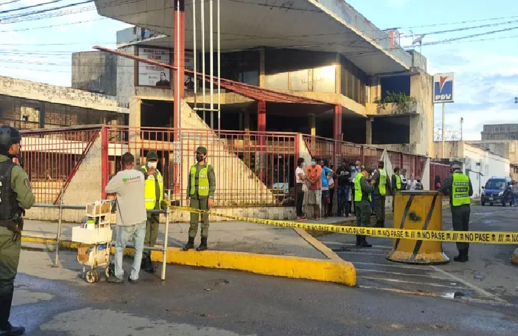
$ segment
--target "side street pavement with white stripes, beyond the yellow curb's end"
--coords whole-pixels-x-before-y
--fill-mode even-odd
[[[471,207],[471,230],[518,231],[518,207]],[[393,227],[392,221],[386,227]],[[443,230],[453,230],[450,210],[443,211]],[[389,262],[392,240],[368,238],[372,248],[356,248],[344,234],[320,237],[340,257],[356,266],[360,287],[405,291],[417,295],[518,304],[518,267],[510,263],[517,246],[471,244],[469,262],[453,262],[455,243],[444,243],[449,264],[421,266]]]

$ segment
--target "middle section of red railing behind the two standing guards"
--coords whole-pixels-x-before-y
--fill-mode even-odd
[[[293,202],[297,134],[108,127],[107,136],[109,175],[118,171],[125,152],[134,154],[141,166],[146,164],[146,154],[156,151],[164,189],[177,204],[187,198],[189,168],[196,163],[198,146],[207,148],[207,161],[214,167],[218,206]]]

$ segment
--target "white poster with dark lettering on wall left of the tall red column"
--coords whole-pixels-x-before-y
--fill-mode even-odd
[[[160,63],[171,64],[169,52],[168,49],[139,47],[139,57]],[[139,62],[139,85],[170,88],[171,71],[166,67]]]

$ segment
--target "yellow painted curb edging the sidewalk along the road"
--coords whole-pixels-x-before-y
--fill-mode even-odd
[[[22,241],[56,245],[56,240],[46,238],[22,237]],[[63,248],[77,249],[79,245],[81,244],[72,241],[61,241]],[[133,253],[133,248],[126,248],[124,254],[133,255]],[[162,262],[162,255],[163,253],[160,251],[152,251],[151,258],[155,262]],[[350,262],[338,260],[211,250],[203,252],[197,252],[196,250],[182,251],[180,248],[168,248],[166,258],[168,264],[233,269],[285,278],[336,282],[347,286],[356,285],[354,265]]]

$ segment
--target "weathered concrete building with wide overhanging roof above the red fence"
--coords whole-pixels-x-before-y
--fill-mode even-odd
[[[100,15],[135,25],[117,33],[118,51],[194,69],[192,4],[182,6],[180,1],[177,12],[171,4],[152,0],[124,6],[113,0],[95,3]],[[151,9],[139,13],[139,8]],[[198,22],[200,8],[196,13]],[[175,15],[180,15],[178,26]],[[183,83],[180,99],[212,129],[300,132],[433,156],[432,77],[426,72],[426,59],[402,49],[394,34],[377,29],[347,3],[300,0],[283,10],[222,0],[221,17],[221,79],[248,84],[256,89],[246,90],[263,95],[222,87],[221,95],[214,90],[212,109],[221,105],[214,113],[207,111],[210,83],[203,95],[199,78],[117,56],[116,97],[119,106],[130,109],[130,126],[181,127],[180,122],[175,125],[175,111],[181,106],[174,102],[178,77]],[[174,52],[174,29],[166,27],[180,29],[180,53]],[[209,74],[210,54],[200,52],[197,29],[196,71],[205,64]],[[244,35],[249,37],[240,37]],[[88,67],[88,59],[81,59],[81,66]],[[216,59],[214,54],[214,75]],[[101,74],[86,76],[74,82],[102,89]],[[285,95],[285,101],[262,100],[269,90]],[[292,96],[311,100],[293,102]]]

